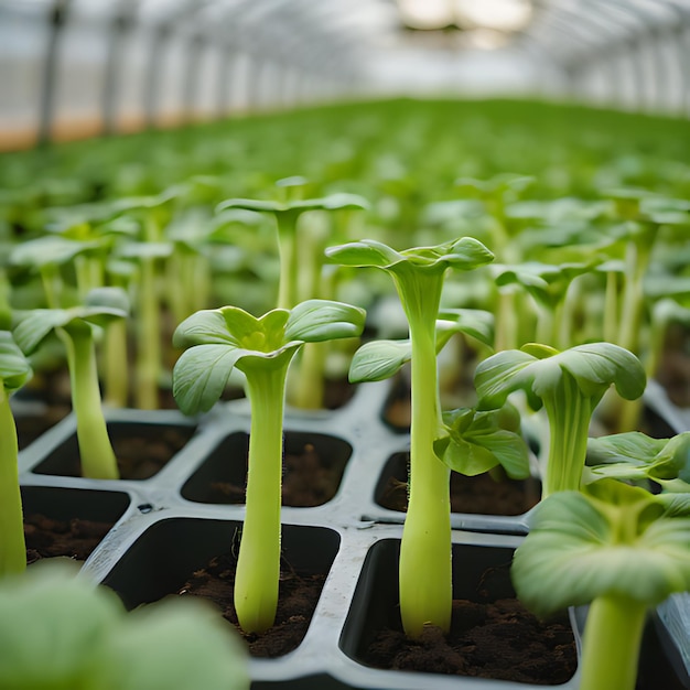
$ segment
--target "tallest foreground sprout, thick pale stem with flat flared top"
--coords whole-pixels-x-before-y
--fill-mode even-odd
[[[436,316],[448,269],[472,270],[494,257],[471,237],[400,252],[365,239],[331,247],[326,255],[336,263],[375,267],[390,273],[408,319],[412,418],[409,500],[400,549],[400,614],[409,637],[419,637],[427,624],[448,630],[453,600],[450,471],[433,449],[443,430]]]

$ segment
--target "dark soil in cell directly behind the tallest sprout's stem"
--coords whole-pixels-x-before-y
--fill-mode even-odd
[[[389,461],[390,476],[377,492],[377,503],[389,510],[406,511],[408,453],[398,453]],[[474,477],[451,473],[451,510],[475,515],[522,515],[540,498],[537,479],[495,479],[484,473]]]

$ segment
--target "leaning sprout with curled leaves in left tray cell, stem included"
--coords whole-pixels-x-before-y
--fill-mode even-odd
[[[26,356],[55,333],[67,352],[72,407],[77,422],[82,474],[97,479],[119,477],[117,460],[103,413],[96,366],[96,326],[128,315],[129,301],[119,288],[97,288],[83,306],[35,309],[14,328],[14,339]]]

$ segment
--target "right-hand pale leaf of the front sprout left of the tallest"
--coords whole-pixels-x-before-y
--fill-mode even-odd
[[[306,300],[290,311],[285,338],[319,343],[357,337],[364,331],[366,312],[359,306],[330,300]]]

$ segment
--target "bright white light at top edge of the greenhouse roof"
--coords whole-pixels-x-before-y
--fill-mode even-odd
[[[463,29],[517,31],[532,13],[531,0],[398,0],[406,24],[414,29]]]

